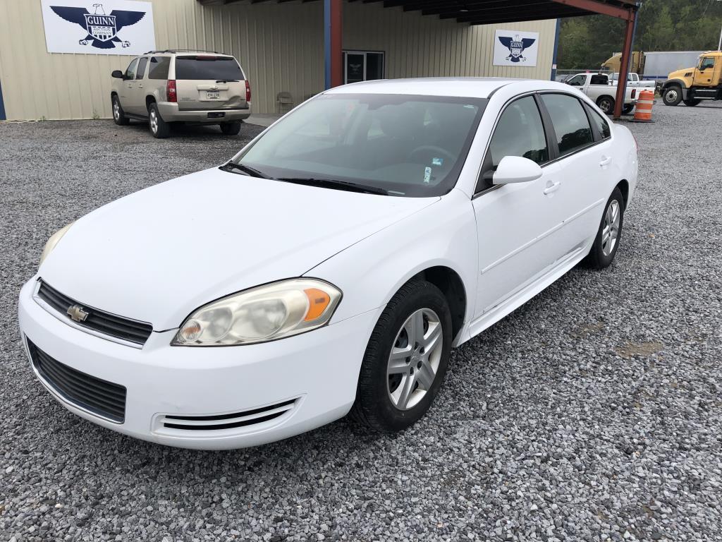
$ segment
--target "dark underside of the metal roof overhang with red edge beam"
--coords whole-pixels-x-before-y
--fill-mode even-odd
[[[287,4],[316,0],[199,0],[204,5]],[[348,0],[363,4],[401,7],[405,12],[421,12],[440,19],[456,19],[469,25],[532,21],[603,14],[630,20],[637,8],[635,0]]]

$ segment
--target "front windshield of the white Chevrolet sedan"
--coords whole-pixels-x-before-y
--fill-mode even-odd
[[[456,184],[486,103],[321,95],[272,126],[235,162],[281,180],[343,181],[392,196],[440,196]]]

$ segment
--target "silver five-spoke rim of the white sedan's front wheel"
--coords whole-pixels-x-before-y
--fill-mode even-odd
[[[431,390],[443,350],[441,320],[419,309],[396,334],[386,369],[388,397],[399,410],[414,408]]]

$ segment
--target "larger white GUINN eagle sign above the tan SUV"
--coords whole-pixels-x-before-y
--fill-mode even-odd
[[[153,5],[134,0],[41,0],[48,53],[137,55],[155,49]]]

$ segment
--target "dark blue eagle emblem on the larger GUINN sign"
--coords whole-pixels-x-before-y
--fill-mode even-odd
[[[129,41],[118,38],[118,32],[125,26],[136,24],[145,17],[145,12],[113,9],[110,15],[106,15],[103,4],[92,4],[92,7],[95,8],[95,13],[88,12],[84,7],[51,6],[51,9],[64,20],[77,23],[83,28],[87,35],[78,40],[80,45],[90,43],[98,49],[112,49],[116,43],[121,43],[123,47],[130,47]]]

